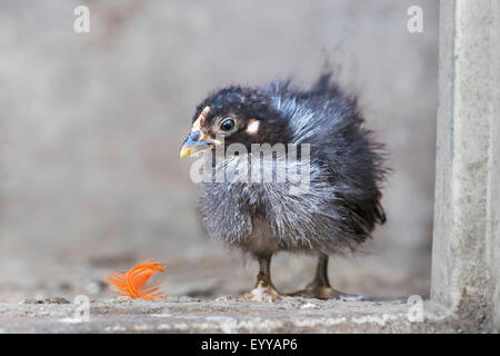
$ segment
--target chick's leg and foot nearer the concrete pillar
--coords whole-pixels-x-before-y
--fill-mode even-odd
[[[316,267],[314,279],[303,290],[291,294],[292,296],[312,297],[318,299],[341,299],[341,300],[361,300],[364,297],[360,295],[350,295],[337,290],[330,286],[328,280],[328,256],[320,254]]]

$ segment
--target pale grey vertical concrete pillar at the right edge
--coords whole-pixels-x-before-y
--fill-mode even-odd
[[[500,329],[500,1],[441,0],[431,298]]]

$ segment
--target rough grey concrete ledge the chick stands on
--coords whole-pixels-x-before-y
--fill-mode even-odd
[[[77,306],[54,303],[0,304],[1,333],[460,333],[478,332],[446,310],[423,304],[283,298],[277,303],[218,301],[171,297],[163,301],[108,299],[90,304],[89,322]],[[412,322],[411,322],[412,320]]]

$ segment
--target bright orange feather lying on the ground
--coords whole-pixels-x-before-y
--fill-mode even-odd
[[[104,278],[117,288],[113,291],[121,296],[152,300],[164,295],[163,291],[158,291],[164,284],[158,281],[149,286],[146,284],[154,273],[166,270],[167,268],[162,264],[148,259],[133,266],[128,273],[108,270],[109,275],[106,275]]]

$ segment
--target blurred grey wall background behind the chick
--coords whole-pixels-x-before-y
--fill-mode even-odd
[[[90,8],[90,33],[73,9]],[[407,10],[423,9],[409,33]],[[170,295],[237,295],[257,264],[206,238],[190,160],[194,106],[228,83],[293,77],[329,61],[387,142],[388,222],[336,286],[371,297],[429,293],[438,1],[0,1],[0,301],[109,297],[107,268],[156,257]],[[282,254],[277,287],[314,259]]]

